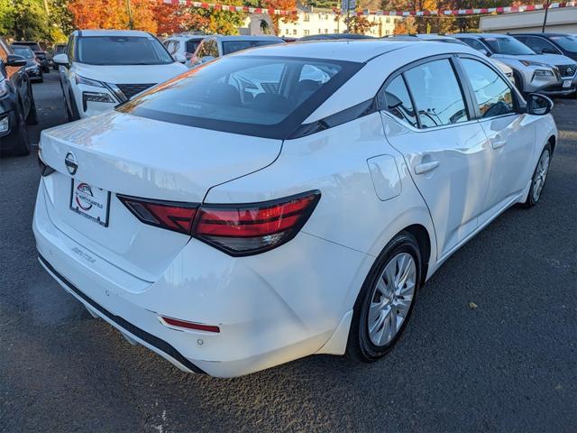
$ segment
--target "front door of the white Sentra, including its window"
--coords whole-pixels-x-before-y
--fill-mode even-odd
[[[520,113],[517,94],[492,65],[466,56],[460,63],[471,83],[474,110],[490,142],[491,173],[482,224],[527,187],[536,152],[535,118]]]

